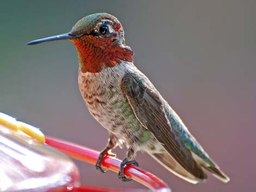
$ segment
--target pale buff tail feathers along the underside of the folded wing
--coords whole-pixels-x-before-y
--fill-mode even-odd
[[[174,175],[184,179],[187,182],[196,184],[198,182],[202,183],[206,181],[206,174],[203,179],[195,177],[186,169],[184,169],[179,163],[177,163],[168,153],[154,153],[150,154],[150,156],[157,160],[157,162],[164,166],[164,168],[166,168],[168,171],[172,172]]]

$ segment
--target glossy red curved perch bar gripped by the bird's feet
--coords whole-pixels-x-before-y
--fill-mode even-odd
[[[94,151],[90,148],[83,147],[81,145],[70,143],[69,141],[60,140],[50,136],[46,136],[45,143],[54,148],[57,148],[59,151],[62,151],[63,153],[67,154],[72,158],[82,160],[84,162],[87,162],[93,165],[96,164],[97,158],[99,157],[99,154],[100,154],[99,152]],[[114,172],[119,171],[120,164],[121,164],[121,160],[111,156],[106,156],[102,161],[102,165],[104,167]],[[153,174],[150,174],[150,172],[139,169],[136,166],[127,165],[124,169],[124,173],[126,176],[143,184],[144,186],[148,187],[153,191],[156,191],[156,192],[171,191],[168,185],[164,183],[160,178],[157,178]],[[81,191],[81,190],[74,189],[74,191]],[[129,191],[129,190],[124,190],[124,191]]]

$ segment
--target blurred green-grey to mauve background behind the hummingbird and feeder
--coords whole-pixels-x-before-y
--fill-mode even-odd
[[[89,114],[77,85],[78,59],[69,41],[26,42],[69,32],[80,18],[118,17],[135,64],[180,115],[231,181],[209,175],[192,185],[147,154],[141,168],[173,191],[255,191],[255,1],[1,1],[0,110],[45,134],[102,150],[107,131]],[[126,150],[115,150],[118,158]],[[76,161],[84,184],[142,187]]]

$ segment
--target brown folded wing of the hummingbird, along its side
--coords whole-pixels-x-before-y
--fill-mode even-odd
[[[165,112],[166,104],[154,85],[142,73],[127,72],[121,87],[137,119],[162,144],[167,153],[185,170],[199,179],[207,178],[172,128]]]

